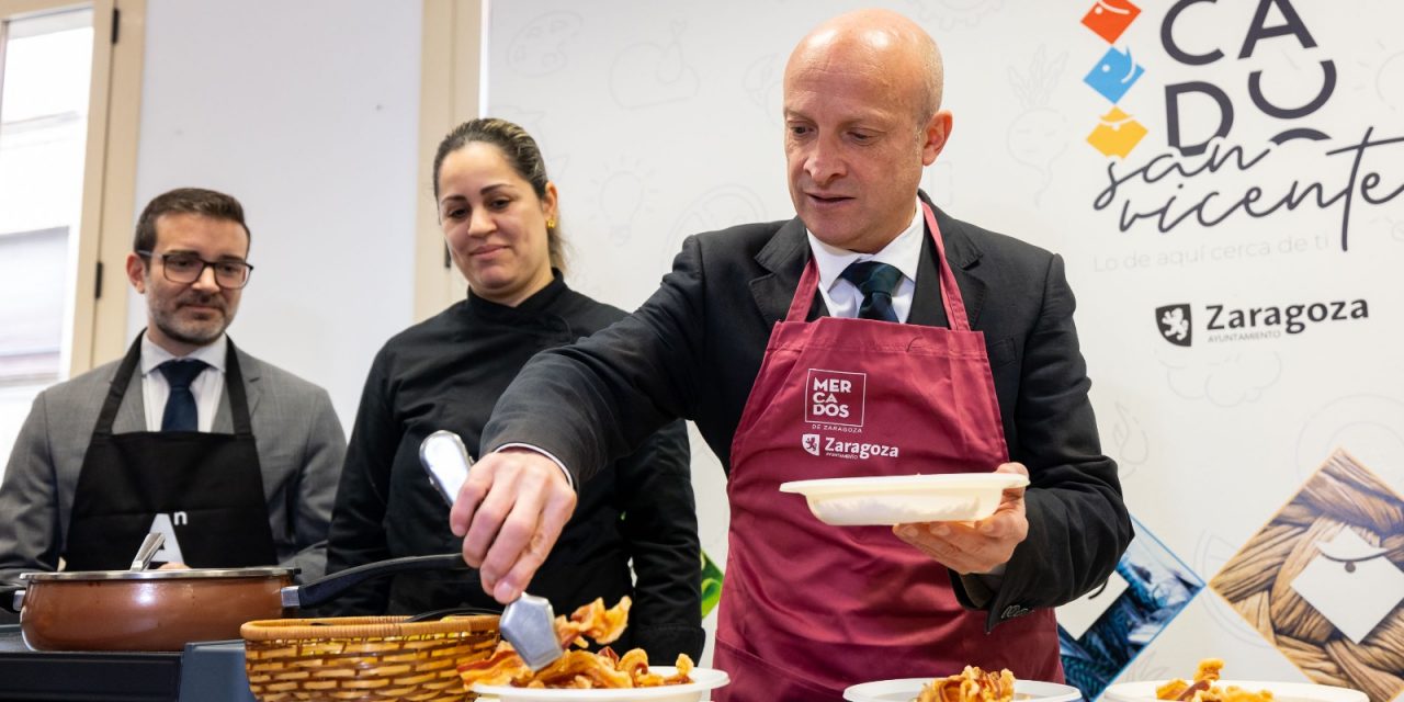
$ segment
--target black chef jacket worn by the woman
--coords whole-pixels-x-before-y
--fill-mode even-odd
[[[327,545],[327,571],[396,556],[462,549],[448,505],[420,466],[435,430],[463,438],[476,458],[497,397],[541,350],[592,334],[625,313],[555,281],[517,307],[469,293],[396,334],[375,357],[347,446]],[[602,427],[602,430],[608,430]],[[639,646],[658,664],[702,653],[696,505],[682,423],[654,434],[578,489],[574,515],[528,592],[570,614],[597,597],[633,597],[621,653]],[[629,562],[637,574],[630,583]],[[476,571],[400,574],[358,585],[337,615],[417,614],[498,607]]]

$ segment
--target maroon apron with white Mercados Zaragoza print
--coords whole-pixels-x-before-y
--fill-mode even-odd
[[[984,334],[970,331],[931,208],[951,329],[804,322],[812,260],[731,442],[731,531],[715,665],[722,702],[838,701],[856,682],[965,665],[1063,680],[1052,609],[986,633],[945,566],[889,526],[830,526],[788,480],[988,472],[1008,461]],[[914,300],[915,305],[915,300]]]

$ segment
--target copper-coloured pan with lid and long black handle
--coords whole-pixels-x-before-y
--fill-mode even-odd
[[[188,642],[239,639],[254,619],[316,607],[365,580],[410,570],[463,569],[462,556],[410,556],[292,584],[292,569],[24,573],[0,588],[35,650],[178,651]],[[13,600],[11,600],[13,598]]]

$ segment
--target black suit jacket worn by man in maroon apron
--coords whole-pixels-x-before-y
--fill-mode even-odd
[[[1101,452],[1061,257],[939,211],[936,223],[970,326],[984,333],[1009,459],[1028,466],[1032,483],[1029,536],[983,602],[993,628],[1099,585],[1132,526],[1116,465]],[[908,323],[945,326],[932,254],[928,241]],[[797,218],[688,237],[639,310],[522,369],[483,431],[484,449],[541,446],[583,480],[685,417],[730,470],[731,437],[771,327],[785,317],[809,257]],[[812,317],[824,313],[814,298]]]

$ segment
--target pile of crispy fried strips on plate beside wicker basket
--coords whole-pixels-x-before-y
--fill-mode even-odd
[[[570,618],[556,618],[556,635],[562,646],[585,646],[585,637],[598,643],[619,639],[629,621],[628,597],[618,605],[605,609],[602,600],[576,609]],[[465,689],[473,685],[511,685],[517,688],[653,688],[661,685],[684,685],[692,682],[692,658],[680,654],[677,674],[658,675],[649,670],[649,654],[643,649],[632,649],[619,656],[605,646],[600,653],[567,650],[550,665],[532,673],[507,642],[483,660],[458,665]]]

